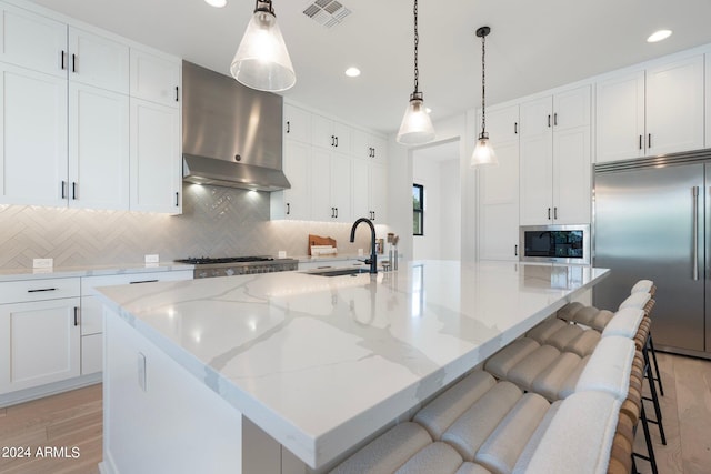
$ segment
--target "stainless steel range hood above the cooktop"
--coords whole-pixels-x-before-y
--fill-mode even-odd
[[[259,191],[291,188],[282,171],[282,98],[183,61],[183,181]]]

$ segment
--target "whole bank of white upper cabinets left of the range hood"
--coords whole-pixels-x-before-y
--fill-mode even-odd
[[[0,3],[0,203],[180,212],[180,60],[38,10]],[[130,124],[129,97],[170,108],[170,127]],[[170,194],[132,202],[167,188],[168,164]]]

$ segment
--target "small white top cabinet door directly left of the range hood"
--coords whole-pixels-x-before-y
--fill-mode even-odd
[[[131,48],[131,97],[180,107],[181,62]]]

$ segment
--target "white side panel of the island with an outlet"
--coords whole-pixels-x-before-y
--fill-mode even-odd
[[[242,415],[104,307],[104,474],[242,473]]]

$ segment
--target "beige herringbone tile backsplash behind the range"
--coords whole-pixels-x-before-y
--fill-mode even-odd
[[[0,205],[0,269],[32,266],[53,258],[54,266],[139,263],[147,253],[162,262],[187,256],[307,254],[308,234],[331,236],[339,253],[368,251],[350,223],[269,220],[269,193],[217,186],[183,186],[182,215]],[[378,226],[384,238],[385,226]]]

